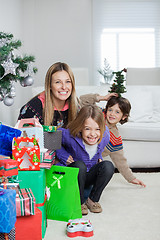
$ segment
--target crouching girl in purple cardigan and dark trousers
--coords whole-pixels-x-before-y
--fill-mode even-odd
[[[97,106],[81,108],[75,120],[62,128],[62,147],[56,150],[58,165],[78,167],[78,183],[82,214],[102,211],[99,204],[102,191],[110,181],[114,166],[102,161],[102,152],[109,142],[109,130],[105,127],[103,113]],[[93,185],[85,202],[84,188]]]

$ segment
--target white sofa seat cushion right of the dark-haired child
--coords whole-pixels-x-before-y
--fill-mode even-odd
[[[135,123],[127,122],[118,125],[118,129],[124,140],[133,141],[160,141],[160,122]]]

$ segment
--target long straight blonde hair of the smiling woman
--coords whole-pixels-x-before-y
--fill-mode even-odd
[[[66,71],[71,79],[72,93],[67,99],[69,104],[68,122],[72,121],[77,114],[77,99],[75,91],[75,79],[71,68],[66,63],[57,62],[54,63],[48,69],[45,77],[45,103],[43,109],[43,119],[45,125],[52,125],[54,118],[54,100],[51,90],[52,75],[58,71]]]

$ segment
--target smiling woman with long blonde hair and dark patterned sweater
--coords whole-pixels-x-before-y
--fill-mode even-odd
[[[44,125],[65,127],[79,108],[73,72],[66,63],[57,62],[47,71],[45,91],[21,108],[18,119],[34,117]]]

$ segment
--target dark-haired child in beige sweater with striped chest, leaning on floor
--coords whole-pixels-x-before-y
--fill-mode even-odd
[[[145,187],[146,185],[133,175],[132,170],[128,166],[123,152],[122,137],[117,128],[117,123],[124,124],[128,121],[131,110],[130,102],[126,98],[118,97],[118,95],[113,96],[113,94],[107,94],[106,96],[87,94],[81,96],[80,99],[83,104],[108,101],[103,112],[106,126],[108,126],[110,131],[110,141],[106,145],[102,156],[110,156],[110,160],[129,183]]]

